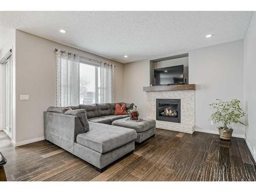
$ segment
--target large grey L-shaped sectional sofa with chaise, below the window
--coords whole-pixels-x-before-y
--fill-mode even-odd
[[[133,105],[127,103],[126,110],[131,110]],[[46,111],[46,140],[93,164],[99,172],[126,154],[133,153],[136,131],[111,125],[113,121],[129,116],[114,115],[115,103],[81,104],[71,108],[86,110],[90,130],[84,133],[79,118],[63,114],[63,108],[56,112]]]

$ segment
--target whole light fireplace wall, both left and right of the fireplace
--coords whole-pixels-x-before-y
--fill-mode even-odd
[[[187,53],[187,52],[186,52]],[[216,98],[241,100],[243,97],[243,40],[188,51],[189,83],[197,84],[196,129],[217,132],[210,125],[209,103]],[[141,116],[145,116],[145,93],[143,86],[150,85],[149,60],[126,63],[124,66],[124,100],[138,105]],[[235,136],[244,136],[244,127],[236,125]]]

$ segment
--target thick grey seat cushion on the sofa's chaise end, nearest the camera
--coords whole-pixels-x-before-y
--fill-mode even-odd
[[[135,130],[93,123],[90,131],[77,135],[76,142],[99,153],[106,153],[137,138]]]

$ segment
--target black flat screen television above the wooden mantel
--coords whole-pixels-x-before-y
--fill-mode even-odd
[[[155,69],[155,86],[167,86],[169,84],[184,84],[183,71],[183,65]]]

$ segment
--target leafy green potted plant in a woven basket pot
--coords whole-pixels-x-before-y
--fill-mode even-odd
[[[211,103],[210,106],[214,108],[214,113],[210,116],[210,119],[214,123],[221,123],[218,127],[220,138],[230,140],[232,137],[233,129],[231,123],[240,123],[245,125],[240,119],[245,116],[243,109],[240,107],[240,100],[232,99],[231,101],[222,101],[216,99],[217,102]]]

